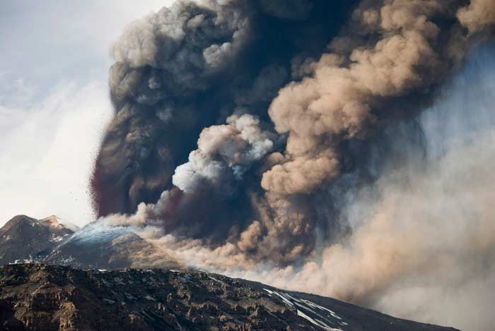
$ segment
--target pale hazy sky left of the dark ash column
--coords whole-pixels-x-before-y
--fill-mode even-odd
[[[88,177],[112,114],[108,49],[172,2],[2,1],[0,226],[18,214],[91,220]]]

